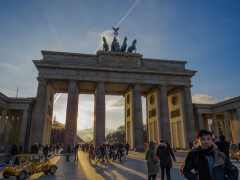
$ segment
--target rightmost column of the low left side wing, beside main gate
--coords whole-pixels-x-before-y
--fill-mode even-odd
[[[26,134],[27,134],[27,123],[28,123],[28,111],[23,111],[22,116],[22,123],[20,125],[20,136],[19,136],[19,143],[21,143],[23,147],[23,152],[26,150]]]

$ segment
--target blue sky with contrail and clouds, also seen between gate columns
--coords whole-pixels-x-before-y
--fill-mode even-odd
[[[120,24],[119,24],[120,23]],[[137,39],[145,58],[188,61],[194,103],[217,103],[240,95],[239,0],[1,0],[0,92],[35,97],[41,50],[93,54],[102,37],[111,43]],[[102,49],[102,46],[100,46]],[[55,95],[55,98],[58,94]],[[93,128],[93,95],[79,96],[78,129]],[[124,124],[124,98],[106,96],[106,133]],[[54,104],[64,123],[67,94]],[[142,98],[143,120],[146,102]],[[92,137],[91,137],[92,138]]]

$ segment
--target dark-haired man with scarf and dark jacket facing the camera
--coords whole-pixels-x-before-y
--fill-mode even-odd
[[[196,139],[199,146],[188,152],[180,166],[180,172],[186,179],[238,179],[237,167],[213,145],[211,132],[201,129],[196,133]]]

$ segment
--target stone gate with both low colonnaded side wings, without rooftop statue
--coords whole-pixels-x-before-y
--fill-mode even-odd
[[[79,94],[94,95],[95,147],[105,141],[105,95],[125,98],[125,140],[131,149],[143,150],[142,96],[146,97],[148,141],[166,139],[173,148],[186,149],[188,142],[195,140],[196,130],[202,127],[213,127],[214,133],[239,140],[239,125],[235,125],[239,121],[240,98],[215,105],[193,105],[191,78],[196,71],[186,69],[186,61],[106,51],[95,55],[56,51],[42,54],[42,60],[33,60],[39,72],[36,98],[8,98],[0,94],[0,145],[4,148],[13,142],[21,142],[25,150],[36,142],[50,143],[56,93],[68,93],[65,144],[72,147],[76,142],[77,119],[81,121]],[[221,128],[211,125],[209,117],[212,124],[220,117],[224,119]],[[20,133],[21,140],[10,140],[14,132]]]

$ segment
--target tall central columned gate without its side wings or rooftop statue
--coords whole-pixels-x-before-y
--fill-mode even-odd
[[[82,54],[42,51],[33,60],[39,71],[30,144],[50,143],[55,93],[68,93],[65,147],[76,142],[79,94],[94,94],[94,146],[105,141],[105,95],[125,97],[126,142],[143,150],[141,96],[147,101],[148,139],[187,148],[195,135],[191,77],[186,61],[143,58],[138,53],[98,51]]]

